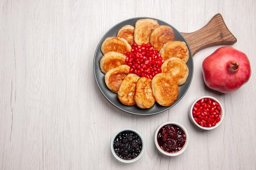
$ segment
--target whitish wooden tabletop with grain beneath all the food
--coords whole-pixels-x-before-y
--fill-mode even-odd
[[[231,94],[204,85],[201,65],[220,46],[195,54],[191,86],[173,108],[153,116],[134,116],[110,105],[93,74],[94,51],[115,24],[131,17],[164,20],[180,32],[193,32],[221,13],[238,39],[234,48],[251,61],[252,76]],[[234,1],[0,1],[0,168],[2,170],[78,169],[256,169],[256,2]],[[200,131],[188,118],[201,96],[218,98],[225,119]],[[159,154],[157,127],[179,122],[189,146],[177,157]],[[143,135],[139,161],[124,164],[110,151],[123,128]]]

